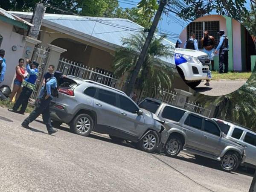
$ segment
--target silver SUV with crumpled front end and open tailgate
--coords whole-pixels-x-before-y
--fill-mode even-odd
[[[73,76],[59,82],[50,111],[55,127],[64,122],[76,134],[109,134],[115,142],[128,140],[147,152],[155,151],[165,130],[157,116],[144,113],[124,92]]]

